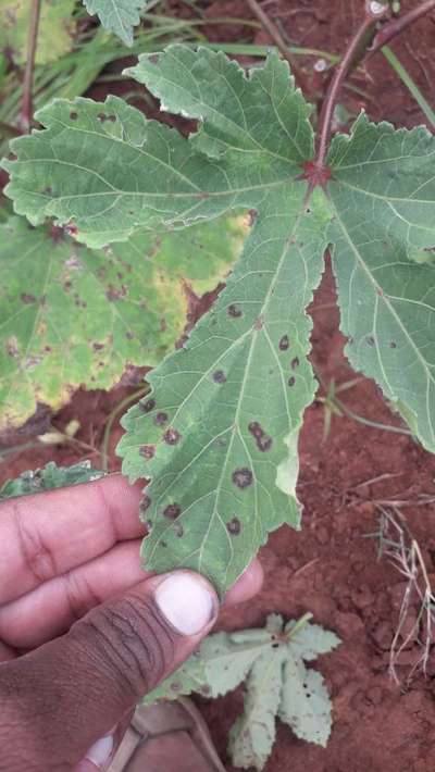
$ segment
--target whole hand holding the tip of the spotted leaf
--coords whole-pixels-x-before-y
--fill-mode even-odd
[[[105,769],[135,703],[213,626],[207,580],[141,570],[139,500],[112,475],[0,505],[0,770]],[[261,582],[254,561],[225,602]]]

